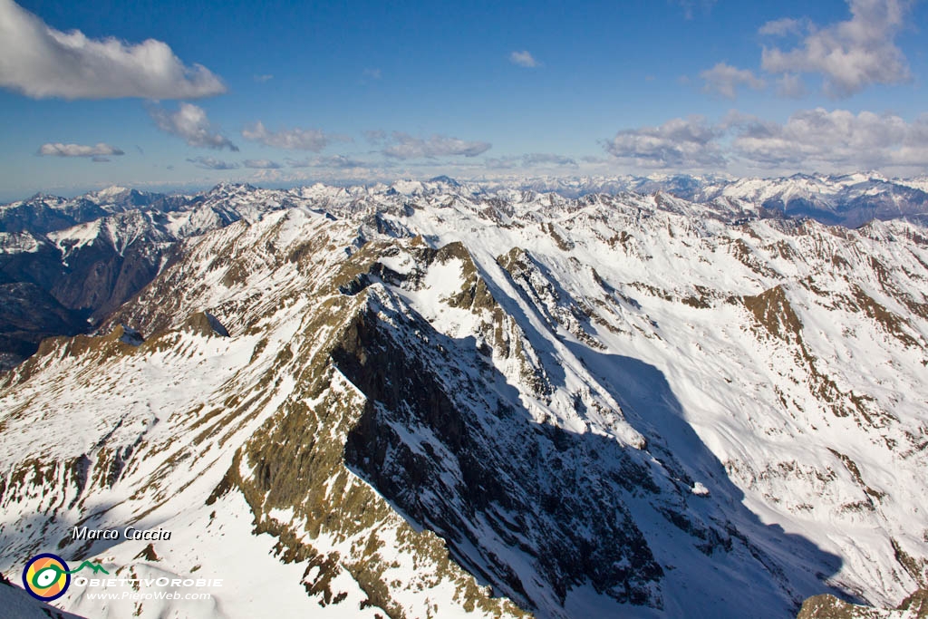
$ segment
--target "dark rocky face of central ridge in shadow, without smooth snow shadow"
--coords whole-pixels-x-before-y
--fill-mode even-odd
[[[647,467],[614,442],[535,423],[485,360],[481,374],[472,340],[413,323],[453,355],[449,367],[378,323],[364,316],[332,356],[367,397],[345,445],[354,471],[523,607],[554,614],[587,583],[620,603],[661,603],[651,587],[664,571],[621,500],[658,492]]]

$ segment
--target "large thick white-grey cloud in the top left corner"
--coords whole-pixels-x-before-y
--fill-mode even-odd
[[[206,67],[185,65],[171,47],[50,28],[12,0],[0,0],[0,86],[27,97],[173,99],[210,97],[226,85]]]

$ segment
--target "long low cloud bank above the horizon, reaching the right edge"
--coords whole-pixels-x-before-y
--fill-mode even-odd
[[[909,123],[894,114],[800,110],[786,123],[736,111],[719,123],[702,117],[620,131],[605,148],[640,168],[719,170],[736,164],[767,172],[923,169],[928,114]]]

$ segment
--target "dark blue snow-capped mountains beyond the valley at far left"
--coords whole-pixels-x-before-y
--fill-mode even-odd
[[[95,329],[171,264],[181,240],[284,208],[281,199],[249,186],[196,196],[110,187],[0,206],[0,371],[32,355],[43,338]],[[54,309],[22,311],[26,297]]]

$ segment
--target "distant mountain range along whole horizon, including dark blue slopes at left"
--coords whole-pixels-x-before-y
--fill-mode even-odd
[[[311,203],[319,192],[345,191],[361,202],[380,193],[510,200],[513,190],[568,199],[634,192],[688,200],[702,205],[704,216],[728,222],[809,217],[850,227],[872,219],[928,223],[928,176],[891,180],[875,173],[796,174],[726,180],[669,175],[505,183],[460,183],[439,176],[390,186],[319,187],[267,190],[222,184],[193,195],[110,187],[71,199],[38,194],[0,205],[0,369],[32,355],[45,337],[94,329],[170,264],[175,245],[184,239],[242,218],[254,220],[262,213]],[[42,311],[30,312],[29,307]]]

